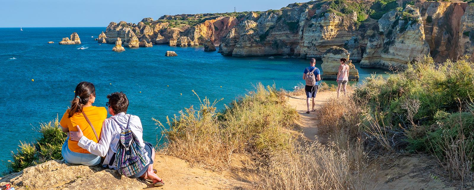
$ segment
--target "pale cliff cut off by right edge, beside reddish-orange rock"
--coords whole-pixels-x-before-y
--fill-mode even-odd
[[[459,54],[471,56],[474,61],[474,6],[466,7],[461,17],[459,38]]]

